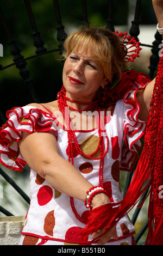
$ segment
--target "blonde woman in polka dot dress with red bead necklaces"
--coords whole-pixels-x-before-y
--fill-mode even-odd
[[[98,236],[93,245],[134,244],[127,215],[108,232],[102,227],[80,235],[87,208],[122,200],[120,169],[131,170],[137,160],[153,94],[154,81],[125,71],[126,48],[117,35],[92,28],[70,35],[58,100],[7,113],[1,163],[15,170],[30,166],[20,245],[87,245]]]

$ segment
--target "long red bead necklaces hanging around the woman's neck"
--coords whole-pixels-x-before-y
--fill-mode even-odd
[[[102,111],[102,107],[99,107],[98,105],[98,100],[93,101],[93,102],[80,102],[80,101],[74,101],[72,99],[69,99],[68,97],[66,97],[66,90],[64,88],[64,86],[62,87],[61,91],[58,93],[57,95],[58,98],[58,107],[60,112],[62,113],[64,119],[65,119],[65,123],[68,127],[67,130],[67,139],[68,139],[68,161],[71,162],[74,165],[74,161],[73,161],[73,143],[78,151],[78,153],[80,155],[82,155],[83,157],[87,157],[90,160],[99,160],[99,186],[103,188],[103,168],[104,168],[104,157],[105,155],[108,153],[109,150],[109,138],[108,135],[106,133],[106,130],[104,129],[104,119],[103,119],[103,115],[100,114],[100,112]],[[75,109],[72,108],[70,106],[67,105],[67,101],[73,102],[73,103],[77,103],[79,105],[89,105],[89,107],[86,107],[84,109]],[[69,113],[65,113],[65,107],[70,108],[73,111],[77,111],[82,113],[83,111],[88,111],[92,108],[95,108],[95,111],[98,111],[99,115],[98,117],[100,117],[100,122],[99,122],[99,118],[95,115],[95,120],[96,120],[96,124],[98,127],[98,135],[99,135],[99,142],[97,145],[97,149],[95,150],[95,152],[93,152],[90,155],[86,155],[82,149],[80,149],[80,145],[77,141],[77,137],[76,137],[76,133],[73,130],[73,126],[71,124],[71,118]],[[100,123],[100,125],[99,125]],[[102,129],[103,128],[103,129]],[[104,137],[106,139],[106,150],[104,147]],[[97,153],[97,151],[100,151],[100,156],[99,157],[95,157],[93,155],[95,155]],[[71,208],[72,211],[74,213],[74,215],[76,216],[76,218],[86,224],[87,221],[84,220],[84,218],[80,217],[80,215],[78,214],[75,206],[74,206],[74,199],[73,197],[70,197],[70,204],[71,204]]]

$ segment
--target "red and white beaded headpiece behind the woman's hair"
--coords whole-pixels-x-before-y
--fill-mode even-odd
[[[123,37],[122,44],[126,48],[126,52],[127,52],[126,57],[124,58],[124,59],[127,59],[125,62],[134,62],[134,59],[136,59],[136,57],[139,57],[139,52],[142,50],[142,48],[140,47],[140,42],[136,41],[135,38],[131,38],[130,35],[127,35],[127,32],[123,34],[116,31],[115,34],[118,36],[118,38]],[[128,40],[127,44],[125,44],[124,42],[124,40],[126,39]],[[135,47],[134,50],[129,51],[129,49],[131,49],[132,47]]]

